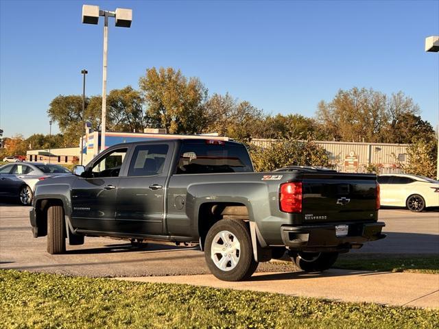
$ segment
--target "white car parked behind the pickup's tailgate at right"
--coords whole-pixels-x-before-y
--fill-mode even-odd
[[[381,206],[407,207],[421,212],[439,207],[439,182],[431,178],[391,173],[378,176]]]

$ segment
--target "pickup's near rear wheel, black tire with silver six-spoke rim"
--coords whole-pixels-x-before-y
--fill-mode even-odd
[[[233,249],[232,245],[230,245],[229,249],[226,249],[226,247],[224,247],[224,249],[226,249],[226,253],[230,252],[228,256],[225,256],[228,257],[225,258],[225,260],[230,260],[228,260],[227,262],[223,261],[226,269],[220,269],[215,264],[215,262],[219,263],[223,259],[224,255],[222,254],[222,252],[215,254],[212,250],[214,239],[218,239],[217,236],[218,234],[221,234],[221,232],[228,232],[225,234],[228,235],[229,242],[232,241],[235,247],[235,238],[239,243],[238,249]],[[219,238],[219,241],[222,241],[222,239]],[[214,245],[218,246],[219,241],[215,241]],[[224,243],[224,241],[222,241],[222,243],[224,245],[227,244]],[[252,274],[254,273],[254,271],[256,271],[258,267],[258,263],[253,258],[250,228],[248,226],[248,223],[244,221],[237,221],[234,219],[222,219],[213,224],[209,232],[207,232],[206,243],[204,245],[204,256],[206,258],[206,263],[211,273],[219,280],[248,280],[248,278],[252,276]],[[218,258],[218,256],[221,256],[221,258]],[[233,260],[230,257],[233,257]],[[235,262],[235,265],[233,265],[233,262]]]

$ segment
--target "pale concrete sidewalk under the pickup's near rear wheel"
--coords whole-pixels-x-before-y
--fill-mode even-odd
[[[250,281],[225,282],[210,274],[118,278],[138,282],[193,284],[215,288],[283,293],[343,302],[439,308],[439,275],[330,269],[324,273],[255,273]]]

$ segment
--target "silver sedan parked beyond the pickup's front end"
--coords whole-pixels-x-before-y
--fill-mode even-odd
[[[21,162],[0,167],[0,197],[19,197],[21,204],[29,205],[35,184],[40,180],[71,172],[58,165],[41,162]]]

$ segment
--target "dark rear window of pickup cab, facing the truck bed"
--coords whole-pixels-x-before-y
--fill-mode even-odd
[[[252,162],[244,146],[187,143],[182,146],[182,151],[180,151],[176,173],[244,173],[252,171]]]

